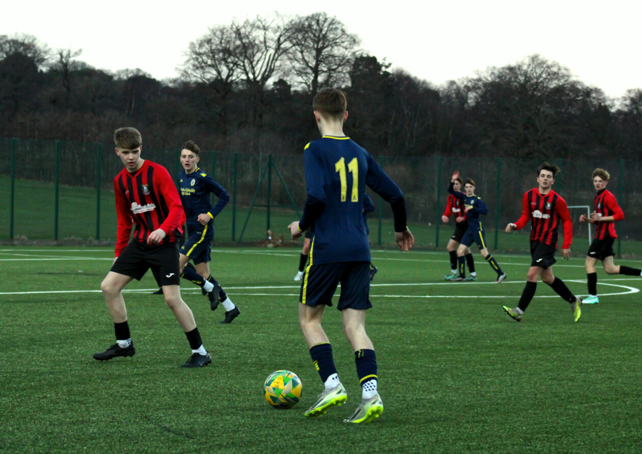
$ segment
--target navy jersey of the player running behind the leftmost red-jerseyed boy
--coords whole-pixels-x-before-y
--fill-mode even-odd
[[[208,213],[212,218],[220,213],[223,207],[230,201],[230,195],[212,177],[204,171],[196,168],[187,175],[185,170],[178,174],[178,191],[180,201],[185,209],[187,225],[198,224],[198,215]],[[218,197],[218,202],[212,207],[209,201],[209,193]],[[210,221],[211,222],[211,221]],[[199,224],[200,225],[200,224]]]

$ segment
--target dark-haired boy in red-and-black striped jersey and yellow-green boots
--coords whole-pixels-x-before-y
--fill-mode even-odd
[[[515,223],[508,223],[507,232],[525,227],[530,220],[530,255],[532,257],[526,286],[519,298],[516,308],[503,306],[502,309],[509,319],[519,322],[526,307],[535,295],[537,279],[548,284],[555,293],[571,304],[573,319],[580,319],[582,298],[578,298],[568,289],[564,281],[553,275],[555,263],[555,250],[557,250],[557,228],[562,223],[564,228],[564,243],[562,243],[562,256],[565,260],[571,256],[571,243],[573,242],[573,222],[568,212],[566,201],[553,191],[555,176],[559,167],[548,162],[542,163],[537,169],[537,188],[526,191],[522,198],[522,214]]]

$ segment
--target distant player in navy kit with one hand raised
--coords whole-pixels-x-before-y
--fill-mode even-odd
[[[499,284],[501,281],[506,279],[506,274],[501,270],[501,268],[499,268],[497,261],[486,247],[485,230],[481,215],[488,213],[488,209],[482,198],[475,195],[475,182],[473,180],[466,180],[464,184],[464,190],[466,191],[465,194],[455,191],[455,181],[458,178],[459,171],[456,170],[453,172],[453,177],[450,180],[448,192],[464,202],[464,213],[466,220],[468,221],[468,228],[466,229],[464,236],[462,236],[462,241],[457,248],[459,275],[458,277],[455,277],[455,279],[451,279],[451,281],[465,281],[464,266],[466,251],[470,250],[469,247],[473,243],[477,243],[477,247],[480,249],[482,257],[488,262],[492,270],[497,273],[497,279],[495,282]]]

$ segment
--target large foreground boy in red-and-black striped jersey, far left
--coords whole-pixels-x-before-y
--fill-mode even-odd
[[[114,322],[116,344],[94,353],[106,361],[136,353],[127,322],[122,290],[132,279],[141,280],[148,269],[160,279],[165,302],[173,311],[192,349],[183,367],[202,367],[212,362],[203,347],[194,315],[180,297],[177,241],[182,235],[185,212],[168,171],[155,162],[141,159],[143,139],[134,128],[114,132],[116,154],[123,169],[114,179],[118,229],[116,258],[100,289]],[[134,238],[129,241],[132,224]]]

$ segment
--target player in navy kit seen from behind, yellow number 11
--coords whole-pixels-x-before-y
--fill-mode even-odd
[[[299,238],[312,224],[315,236],[310,265],[301,284],[299,324],[325,389],[305,413],[316,417],[327,408],[347,400],[321,320],[325,306],[341,283],[337,308],[342,312],[343,331],[354,351],[361,383],[361,404],[346,423],[372,421],[383,412],[377,393],[377,362],[374,347],[365,332],[369,301],[370,247],[363,223],[363,194],[369,186],[392,206],[395,241],[400,249],[412,247],[414,238],[406,227],[406,205],[399,187],[381,170],[372,156],[343,134],[347,119],[345,94],[324,89],[313,100],[317,126],[322,135],[304,148],[308,199],[299,221],[288,226]]]

